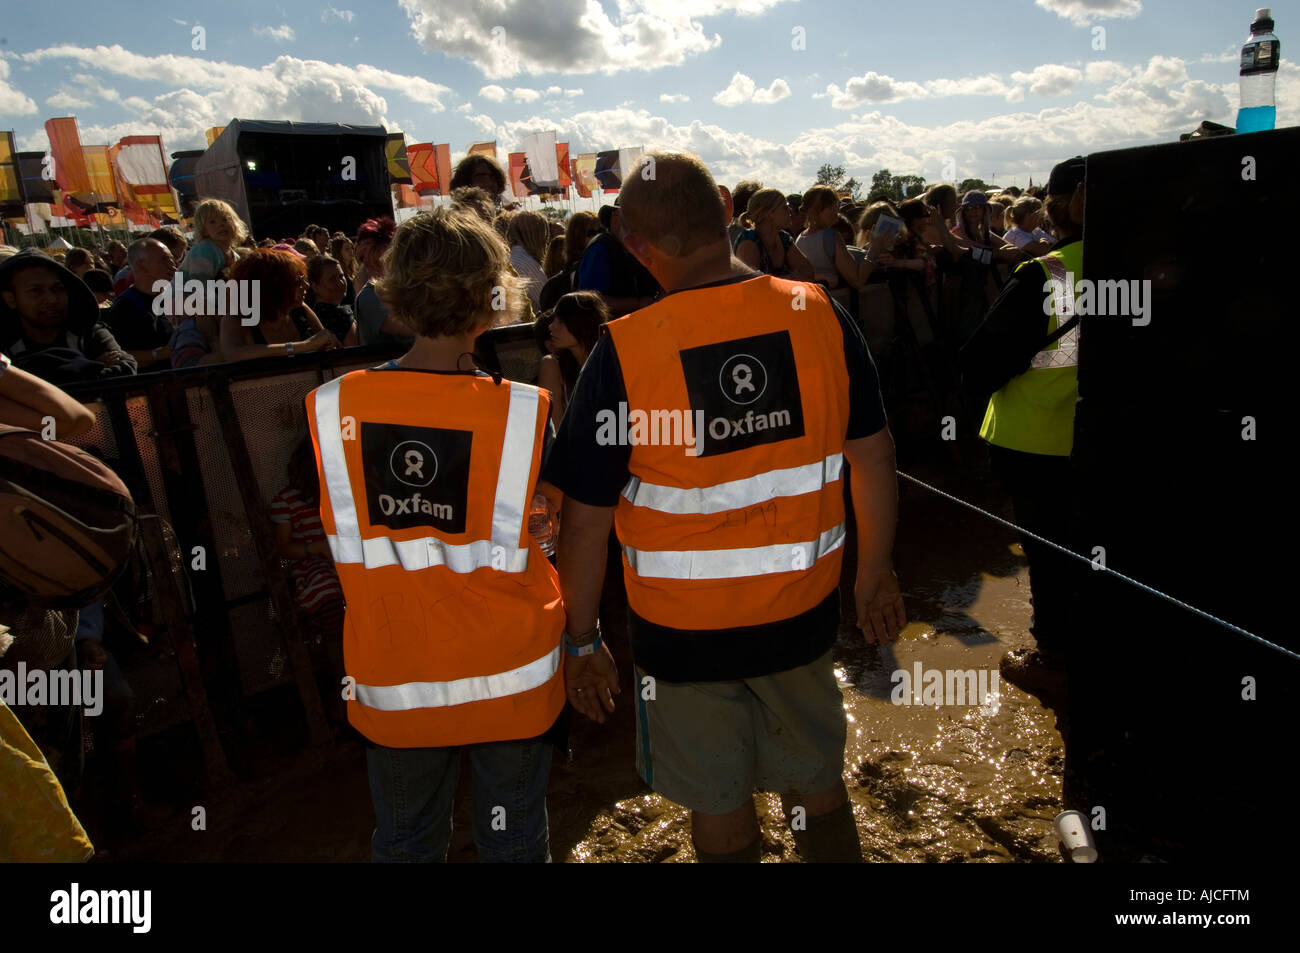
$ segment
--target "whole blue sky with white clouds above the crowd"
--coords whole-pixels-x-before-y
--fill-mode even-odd
[[[1254,13],[1223,0],[133,7],[166,13],[70,0],[52,30],[47,7],[6,9],[0,127],[21,148],[44,148],[55,116],[77,116],[87,144],[161,133],[172,151],[239,116],[382,124],[454,156],[554,129],[573,155],[686,148],[722,182],[786,190],[823,163],[859,179],[888,166],[1024,185],[1078,152],[1231,124]],[[1286,57],[1300,8],[1274,16]],[[1300,122],[1288,62],[1278,101],[1279,125]]]

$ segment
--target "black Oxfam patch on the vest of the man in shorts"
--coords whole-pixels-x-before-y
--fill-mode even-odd
[[[803,436],[803,402],[789,332],[680,352],[693,415],[703,411],[699,456]]]

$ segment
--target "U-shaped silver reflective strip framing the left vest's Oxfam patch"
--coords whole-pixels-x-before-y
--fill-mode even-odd
[[[491,538],[452,545],[436,536],[415,540],[391,540],[386,536],[361,538],[343,452],[339,417],[343,380],[335,377],[316,389],[316,434],[320,438],[325,493],[334,514],[335,529],[326,540],[334,562],[363,563],[367,569],[400,566],[412,572],[432,566],[446,566],[459,573],[485,567],[500,572],[524,572],[528,568],[528,547],[520,547],[519,542],[524,533],[524,516],[532,503],[528,497],[528,476],[537,446],[537,389],[523,384],[510,385],[510,410],[500,449],[497,497],[493,501]]]

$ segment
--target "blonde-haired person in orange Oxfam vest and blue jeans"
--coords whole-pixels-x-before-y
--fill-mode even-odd
[[[526,520],[550,402],[467,369],[520,282],[491,228],[452,209],[403,224],[385,268],[380,294],[415,345],[307,398],[348,720],[372,742],[373,857],[446,859],[467,745],[480,859],[545,861],[540,736],[564,705],[564,615]]]

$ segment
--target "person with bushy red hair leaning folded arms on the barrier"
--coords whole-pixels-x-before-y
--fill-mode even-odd
[[[261,320],[244,326],[238,315],[222,319],[221,352],[226,360],[292,358],[339,346],[338,338],[303,303],[307,268],[296,256],[259,248],[235,263],[230,277],[259,282]]]

